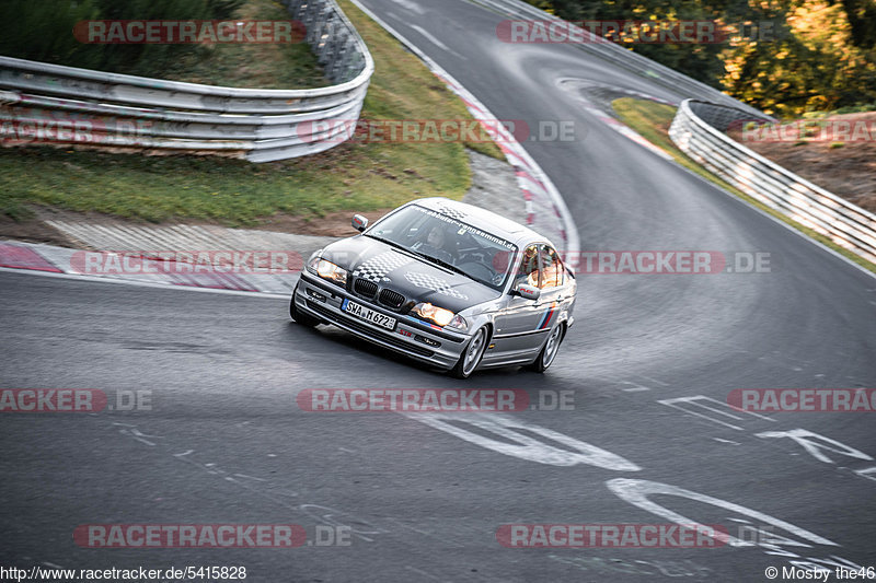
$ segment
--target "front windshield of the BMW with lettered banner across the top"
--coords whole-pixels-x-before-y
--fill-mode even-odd
[[[394,212],[365,234],[499,291],[517,250],[503,238],[418,205]]]

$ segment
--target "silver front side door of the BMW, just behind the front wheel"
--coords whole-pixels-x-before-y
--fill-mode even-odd
[[[518,269],[514,272],[511,290],[518,283],[534,288],[542,285],[541,245],[529,245],[523,249]],[[550,302],[549,302],[550,304]],[[526,355],[544,342],[550,328],[541,327],[544,318],[544,301],[527,300],[512,293],[506,298],[506,305],[496,315],[496,330],[493,334],[495,348],[488,354],[496,357]]]

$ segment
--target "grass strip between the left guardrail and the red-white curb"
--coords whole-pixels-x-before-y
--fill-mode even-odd
[[[261,1],[261,0],[258,0]],[[349,2],[345,13],[374,57],[362,117],[469,119],[464,105],[423,63]],[[276,59],[274,67],[281,67]],[[30,205],[151,222],[258,225],[278,214],[315,219],[392,208],[414,198],[461,198],[471,184],[465,147],[500,158],[495,144],[345,143],[269,164],[209,156],[142,156],[73,149],[0,149],[0,212]]]

